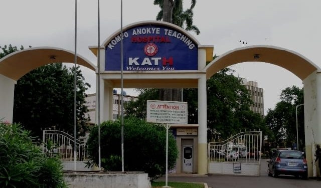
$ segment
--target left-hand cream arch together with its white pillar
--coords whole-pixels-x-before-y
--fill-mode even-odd
[[[51,63],[74,63],[75,53],[61,48],[37,47],[14,52],[0,59],[0,120],[12,122],[15,84],[28,72]],[[93,71],[97,67],[82,56],[77,64]]]

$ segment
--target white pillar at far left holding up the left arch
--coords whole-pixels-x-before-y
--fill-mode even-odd
[[[0,74],[0,121],[13,122],[16,81]]]

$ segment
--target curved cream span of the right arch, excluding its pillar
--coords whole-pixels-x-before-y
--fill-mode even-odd
[[[205,67],[207,79],[219,70],[243,62],[265,62],[280,66],[301,80],[320,68],[304,56],[284,48],[254,45],[237,48],[219,56]]]

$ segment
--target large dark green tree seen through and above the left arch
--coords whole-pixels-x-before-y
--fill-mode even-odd
[[[22,46],[21,50],[24,49]],[[12,45],[4,46],[0,57],[18,51]],[[90,87],[77,67],[77,132],[86,130],[88,111],[85,91]],[[13,122],[24,124],[34,136],[42,136],[45,129],[74,130],[74,68],[61,63],[32,70],[15,85]]]

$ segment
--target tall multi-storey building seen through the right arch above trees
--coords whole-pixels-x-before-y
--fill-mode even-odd
[[[246,89],[249,91],[253,105],[250,106],[250,109],[253,112],[259,113],[264,116],[264,98],[263,98],[263,88],[257,87],[257,82],[247,81],[245,78],[240,78],[243,85],[246,86]]]

